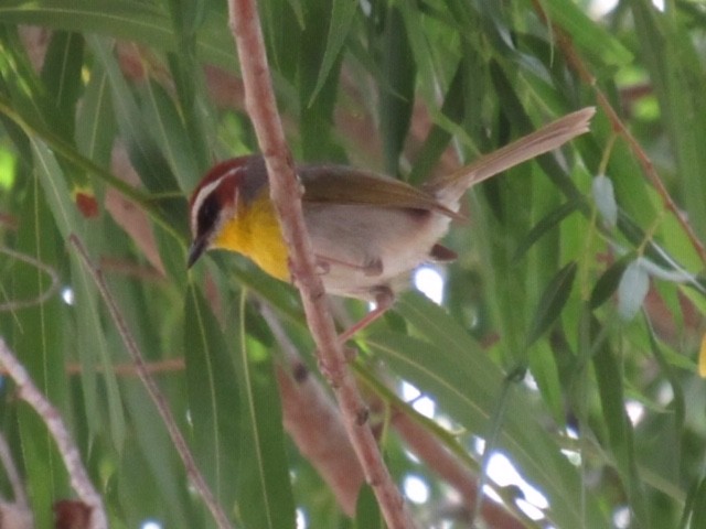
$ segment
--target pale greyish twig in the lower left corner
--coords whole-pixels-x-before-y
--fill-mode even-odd
[[[46,429],[54,438],[58,453],[64,460],[66,472],[68,472],[71,486],[81,500],[90,509],[89,527],[92,529],[107,529],[108,518],[103,505],[103,498],[88,478],[88,473],[81,461],[81,453],[68,433],[61,413],[34,385],[26,369],[8,348],[2,338],[0,338],[0,364],[6,367],[10,377],[14,380],[20,398],[34,408],[34,411],[42,418]]]

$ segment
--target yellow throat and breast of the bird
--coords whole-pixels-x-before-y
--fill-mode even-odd
[[[268,188],[248,204],[238,201],[236,212],[216,236],[214,246],[243,253],[270,276],[289,281],[287,247]]]

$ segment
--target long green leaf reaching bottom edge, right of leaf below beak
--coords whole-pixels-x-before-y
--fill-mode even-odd
[[[244,309],[242,303],[240,344],[236,354],[242,407],[238,507],[247,527],[295,527],[295,501],[271,352],[248,338]]]

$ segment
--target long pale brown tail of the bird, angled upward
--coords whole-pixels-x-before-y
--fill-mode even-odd
[[[451,174],[430,180],[425,188],[445,206],[454,208],[466,191],[510,168],[549,152],[589,130],[595,107],[582,108],[512,143],[482,155]]]

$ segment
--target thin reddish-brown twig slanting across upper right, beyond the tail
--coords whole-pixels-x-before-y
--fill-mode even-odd
[[[676,220],[682,226],[682,229],[688,237],[689,241],[692,242],[692,246],[698,253],[702,262],[706,264],[706,247],[696,236],[696,233],[694,231],[694,229],[692,229],[688,220],[682,214],[678,206],[670,195],[670,192],[662,183],[662,179],[660,179],[660,175],[654,169],[654,164],[652,163],[652,160],[650,160],[650,156],[648,156],[648,153],[644,152],[644,149],[642,149],[640,142],[638,142],[628,127],[625,127],[625,123],[623,123],[623,121],[620,119],[620,116],[618,116],[618,112],[610,104],[608,96],[606,96],[603,90],[601,90],[598,86],[596,76],[590,72],[589,67],[586,65],[581,56],[577,53],[576,47],[574,47],[571,37],[547,18],[547,13],[542,9],[538,0],[533,0],[533,4],[539,18],[544,20],[544,22],[554,31],[556,35],[556,42],[559,45],[559,50],[561,50],[564,56],[566,57],[567,63],[569,64],[569,66],[571,66],[571,68],[574,68],[574,71],[576,71],[579,78],[591,87],[591,89],[596,94],[598,106],[603,110],[603,112],[606,112],[606,116],[610,120],[611,127],[618,134],[620,134],[621,138],[625,140],[628,147],[632,151],[632,154],[635,156],[638,163],[642,168],[643,173],[645,174],[652,186],[655,188],[655,191],[660,194],[665,209],[674,215]]]

